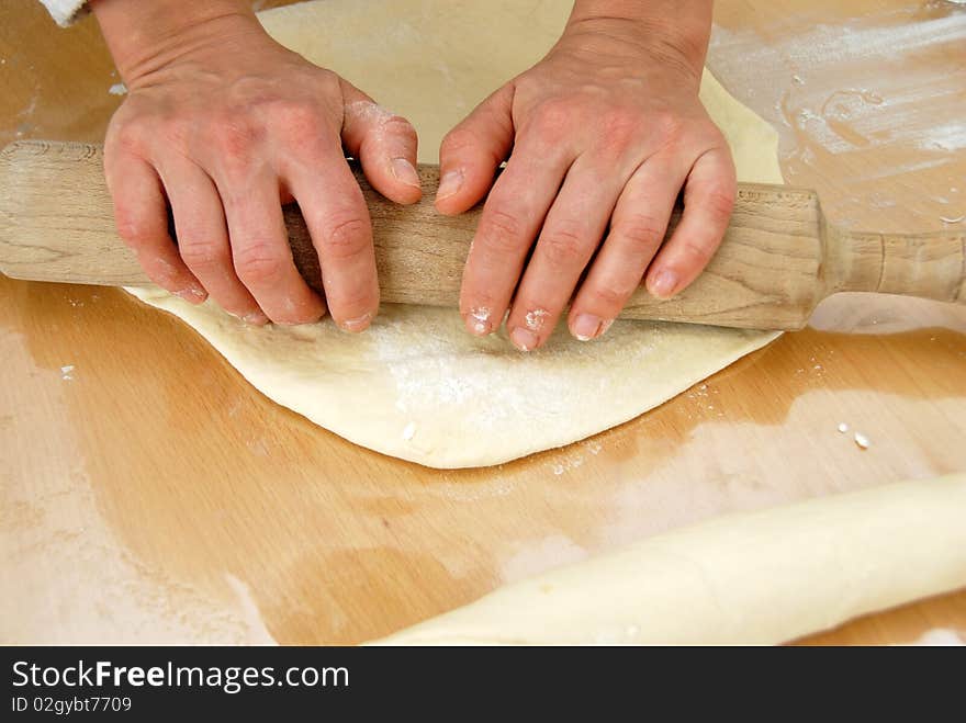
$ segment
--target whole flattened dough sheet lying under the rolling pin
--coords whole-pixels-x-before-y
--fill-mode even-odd
[[[559,37],[572,3],[308,2],[263,12],[280,42],[413,121],[419,158]],[[701,99],[740,180],[782,182],[777,135],[709,74]],[[213,304],[131,290],[198,330],[262,393],[370,449],[434,467],[498,464],[632,419],[766,344],[775,332],[617,321],[579,342],[561,325],[521,354],[478,340],[456,309],[383,305],[361,336],[330,321],[247,328]]]

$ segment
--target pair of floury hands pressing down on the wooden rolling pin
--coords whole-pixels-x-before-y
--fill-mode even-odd
[[[348,331],[368,327],[379,306],[372,233],[345,156],[380,193],[414,203],[412,125],[277,44],[250,12],[209,8],[150,52],[125,53],[111,32],[128,22],[123,10],[93,7],[130,91],[105,140],[108,184],[119,231],[148,275],[250,324],[328,312]],[[496,330],[508,310],[513,343],[537,349],[572,301],[571,332],[593,339],[642,280],[672,296],[714,255],[735,182],[698,100],[707,34],[666,37],[636,19],[575,11],[543,60],[445,138],[437,208],[462,213],[488,192],[460,297],[470,332]],[[662,246],[682,188],[684,216]],[[281,213],[292,200],[325,300],[292,261]]]

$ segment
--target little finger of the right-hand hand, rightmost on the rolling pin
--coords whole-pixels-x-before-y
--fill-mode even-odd
[[[671,238],[648,269],[648,291],[670,298],[686,289],[721,245],[738,184],[727,146],[703,154],[684,189],[684,214]]]

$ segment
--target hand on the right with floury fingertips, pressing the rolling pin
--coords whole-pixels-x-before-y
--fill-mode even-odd
[[[478,203],[508,158],[463,275],[460,313],[472,334],[495,331],[512,303],[510,340],[530,351],[573,298],[571,334],[593,339],[645,273],[648,290],[670,297],[711,259],[731,215],[734,166],[698,100],[707,38],[675,45],[673,36],[629,21],[572,21],[543,60],[445,138],[436,204],[446,214]],[[662,247],[682,188],[684,216]]]

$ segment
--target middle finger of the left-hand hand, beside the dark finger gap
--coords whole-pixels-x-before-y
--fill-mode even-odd
[[[322,298],[302,279],[292,259],[279,182],[261,172],[222,188],[237,278],[276,324],[308,324],[325,314]]]

